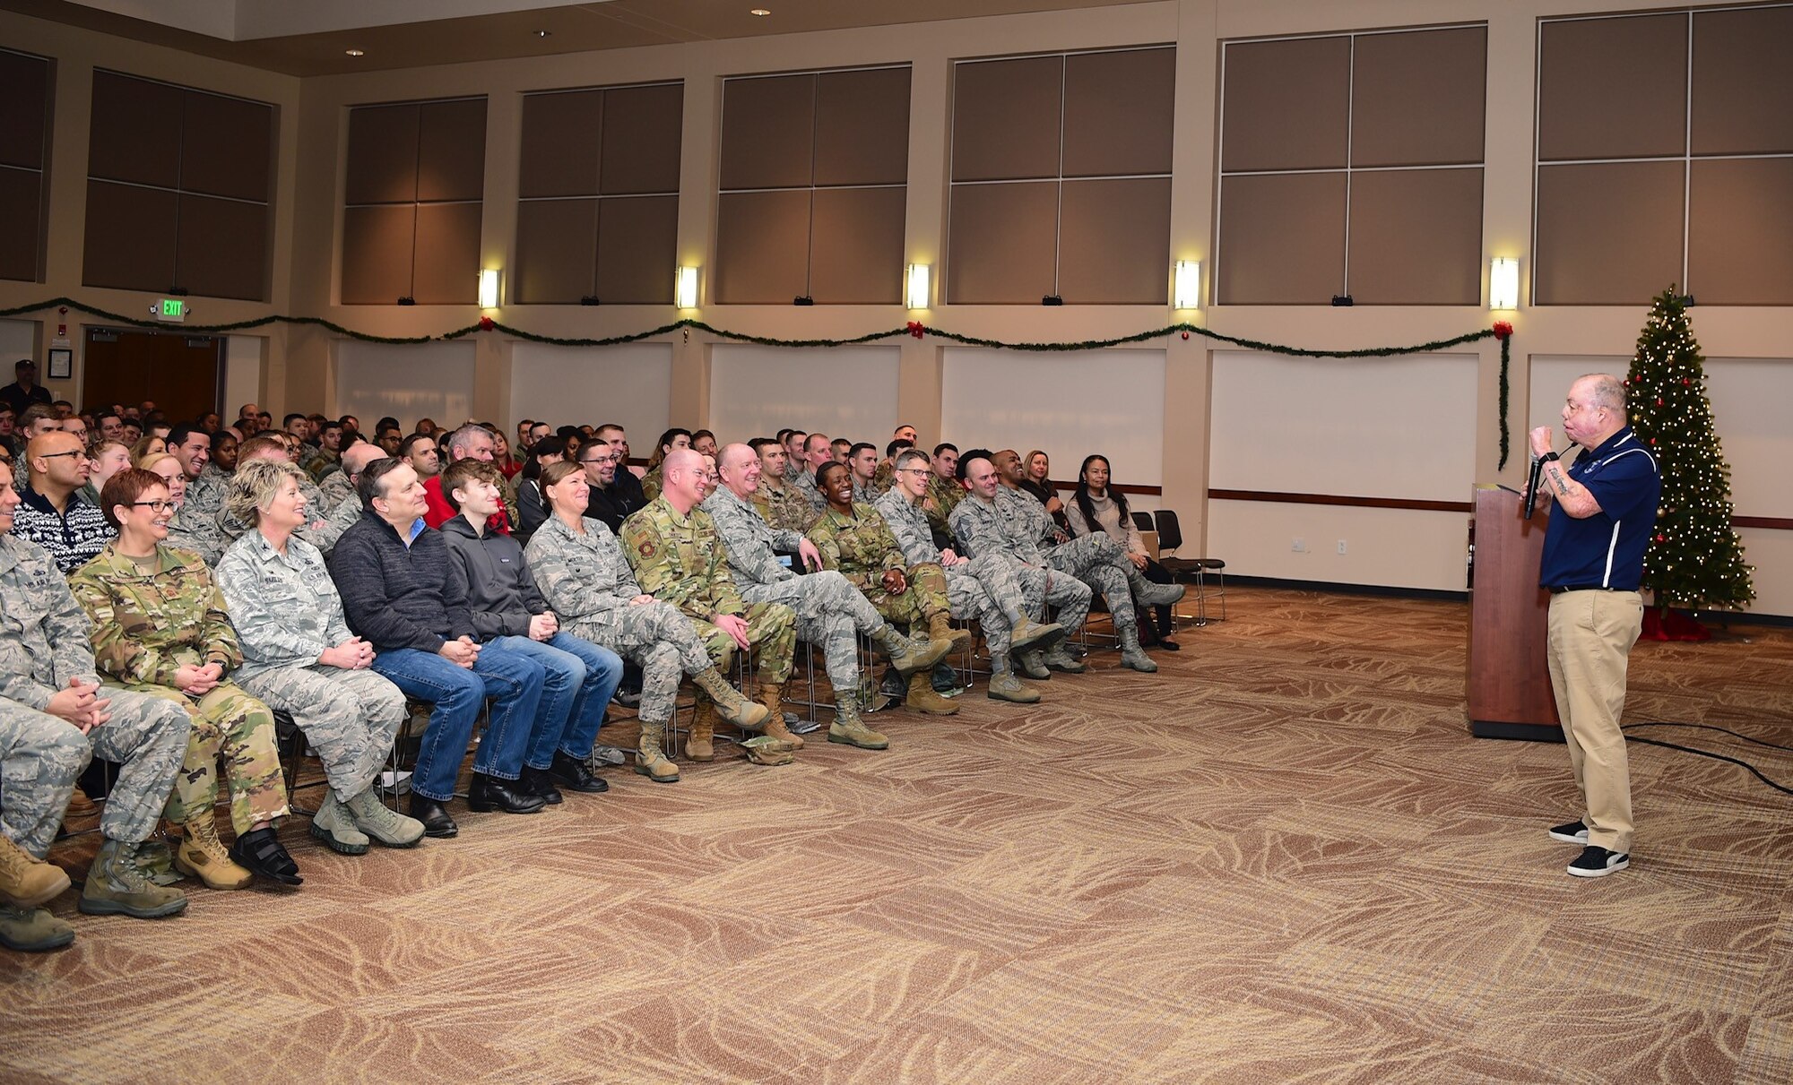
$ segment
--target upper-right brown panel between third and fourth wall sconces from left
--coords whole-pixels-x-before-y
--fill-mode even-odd
[[[1176,50],[1065,57],[1065,175],[1169,174]]]

